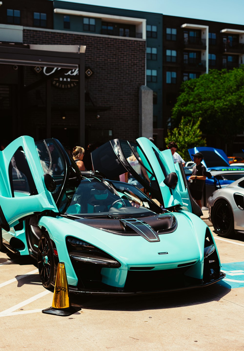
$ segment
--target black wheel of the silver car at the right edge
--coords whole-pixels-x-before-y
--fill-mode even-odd
[[[223,238],[231,237],[234,234],[234,218],[230,205],[225,200],[218,200],[211,212],[215,233]]]

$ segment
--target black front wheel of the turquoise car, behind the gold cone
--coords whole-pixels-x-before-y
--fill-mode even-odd
[[[40,239],[37,252],[37,264],[42,285],[46,289],[51,288],[54,279],[54,252],[53,244],[47,232]]]

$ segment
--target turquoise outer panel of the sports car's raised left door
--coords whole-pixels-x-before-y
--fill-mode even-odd
[[[9,231],[20,219],[45,210],[58,212],[34,139],[20,137],[0,151],[0,226]]]

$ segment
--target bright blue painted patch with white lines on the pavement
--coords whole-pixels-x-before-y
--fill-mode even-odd
[[[244,262],[222,263],[221,272],[226,277],[217,284],[233,289],[244,287]]]

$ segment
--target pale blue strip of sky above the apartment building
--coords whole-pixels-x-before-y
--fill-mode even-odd
[[[244,25],[244,0],[66,0]]]

